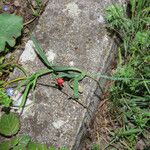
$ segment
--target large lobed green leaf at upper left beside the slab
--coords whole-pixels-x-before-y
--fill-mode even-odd
[[[0,52],[4,51],[6,43],[13,47],[16,38],[21,35],[23,28],[22,17],[14,14],[0,14]]]

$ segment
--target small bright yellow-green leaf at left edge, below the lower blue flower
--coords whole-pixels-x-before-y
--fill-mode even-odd
[[[9,96],[6,95],[6,93],[3,90],[0,90],[0,104],[9,107],[12,100],[9,98]]]

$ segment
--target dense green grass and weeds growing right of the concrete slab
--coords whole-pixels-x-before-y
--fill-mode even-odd
[[[127,79],[115,81],[110,90],[111,111],[121,122],[113,138],[135,149],[139,139],[150,141],[150,1],[112,5],[106,9],[106,21],[121,41],[114,77]]]

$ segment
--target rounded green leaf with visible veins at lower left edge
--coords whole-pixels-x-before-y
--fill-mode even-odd
[[[14,113],[3,114],[0,118],[0,133],[11,136],[19,131],[20,122]]]

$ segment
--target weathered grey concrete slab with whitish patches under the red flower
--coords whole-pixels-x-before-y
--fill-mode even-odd
[[[111,0],[50,0],[34,31],[48,60],[91,73],[106,72],[115,49],[104,28],[103,9],[109,4]],[[29,73],[44,67],[32,49],[32,41],[26,44],[20,63]],[[51,81],[43,77],[41,82]],[[79,150],[100,100],[94,81],[86,78],[81,85],[84,90],[79,101],[88,110],[61,91],[38,85],[35,103],[23,115],[20,134],[29,134],[48,145]],[[67,83],[63,90],[72,94]]]

